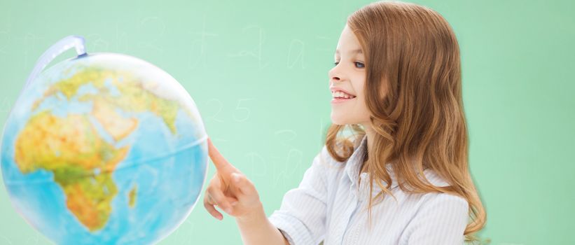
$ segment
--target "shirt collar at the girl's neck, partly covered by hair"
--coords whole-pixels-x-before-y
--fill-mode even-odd
[[[355,144],[354,153],[352,153],[352,155],[349,157],[349,159],[347,159],[347,162],[345,164],[345,173],[347,174],[347,177],[349,178],[349,180],[352,182],[351,188],[354,191],[354,193],[357,193],[357,189],[358,189],[357,183],[359,182],[359,178],[361,178],[361,187],[362,188],[365,187],[365,188],[367,188],[367,190],[369,190],[369,186],[365,185],[367,182],[369,182],[369,174],[368,173],[362,173],[361,176],[359,175],[359,172],[361,171],[361,165],[363,164],[363,157],[364,157],[366,151],[367,151],[367,134],[363,136],[361,141],[359,141],[359,144]],[[395,179],[395,174],[393,172],[393,169],[389,163],[386,165],[386,167],[387,167],[387,172],[392,177],[391,188],[395,188],[397,186],[397,181]],[[382,181],[382,184],[384,186],[387,186],[385,181]],[[373,193],[377,194],[377,193],[379,193],[380,190],[381,189],[379,188],[379,186],[377,186],[377,183],[375,183],[375,181],[374,181]]]

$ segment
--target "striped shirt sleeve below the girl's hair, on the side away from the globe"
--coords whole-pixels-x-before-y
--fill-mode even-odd
[[[463,197],[433,193],[406,228],[408,244],[464,244],[469,206]]]

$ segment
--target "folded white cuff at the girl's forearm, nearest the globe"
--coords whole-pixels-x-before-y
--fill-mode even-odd
[[[313,238],[310,236],[310,231],[297,218],[288,214],[283,214],[282,211],[274,211],[268,220],[272,225],[275,225],[280,232],[282,232],[282,235],[286,237],[289,244],[314,244]]]

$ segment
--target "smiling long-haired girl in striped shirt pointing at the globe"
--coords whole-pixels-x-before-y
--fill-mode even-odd
[[[349,16],[328,72],[326,144],[265,216],[254,184],[209,142],[204,206],[244,244],[463,244],[485,210],[469,174],[459,46],[424,6],[379,1]],[[340,137],[349,128],[352,136]],[[367,212],[366,212],[367,211]],[[367,214],[366,214],[367,213]]]

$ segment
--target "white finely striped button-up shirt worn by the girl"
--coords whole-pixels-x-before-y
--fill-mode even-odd
[[[280,209],[268,217],[290,244],[464,243],[463,233],[469,221],[466,200],[445,193],[404,193],[389,164],[391,190],[397,202],[386,195],[373,206],[372,230],[368,230],[369,176],[359,174],[367,137],[359,142],[345,163],[333,160],[324,146],[298,188],[289,190]],[[448,186],[430,169],[425,169],[424,175],[434,186]],[[380,190],[374,182],[373,197]]]

